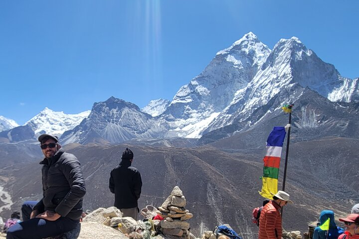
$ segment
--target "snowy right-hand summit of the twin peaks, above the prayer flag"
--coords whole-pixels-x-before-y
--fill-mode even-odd
[[[342,85],[343,82],[346,82],[346,86]],[[237,91],[229,106],[203,133],[233,124],[235,120],[248,121],[254,111],[268,104],[276,95],[289,92],[298,85],[303,88],[309,87],[331,101],[346,102],[356,99],[356,94],[358,95],[357,80],[341,77],[333,65],[323,62],[298,38],[281,39],[253,80],[247,87]],[[356,87],[357,90],[354,90]],[[353,94],[343,94],[338,89],[352,89]],[[289,98],[283,98],[281,103],[294,100],[296,99],[292,98],[289,101]],[[254,122],[252,120],[252,123]]]

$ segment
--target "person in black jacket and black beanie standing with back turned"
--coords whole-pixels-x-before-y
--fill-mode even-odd
[[[141,195],[142,180],[137,168],[132,167],[133,152],[126,148],[122,153],[120,165],[112,169],[110,191],[115,194],[115,207],[120,209],[123,217],[137,221],[139,208],[137,201]]]

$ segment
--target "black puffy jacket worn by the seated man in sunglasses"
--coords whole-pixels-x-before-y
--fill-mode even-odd
[[[62,217],[79,220],[82,198],[86,193],[80,162],[75,155],[60,148],[53,157],[40,162],[42,166],[43,198],[34,210],[56,212]]]

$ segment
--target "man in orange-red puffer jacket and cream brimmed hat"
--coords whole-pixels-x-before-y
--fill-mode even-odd
[[[267,203],[261,212],[259,218],[259,239],[281,239],[282,238],[282,216],[280,209],[292,203],[289,200],[289,194],[284,191],[278,191],[273,194],[273,200]]]

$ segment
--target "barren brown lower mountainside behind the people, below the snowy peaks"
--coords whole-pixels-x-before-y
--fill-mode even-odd
[[[333,144],[337,147],[332,147]],[[325,208],[334,209],[338,217],[347,214],[358,195],[359,180],[342,175],[351,174],[353,179],[358,178],[358,172],[350,171],[358,164],[357,144],[358,139],[341,138],[293,144],[286,191],[295,204],[284,208],[286,230],[306,231],[308,223],[316,221]],[[353,150],[347,152],[347,146]],[[81,145],[69,150],[81,162],[87,185],[85,209],[113,205],[114,196],[108,189],[109,174],[118,165],[126,147],[128,145]],[[132,165],[139,169],[143,181],[139,208],[160,206],[178,185],[186,198],[186,209],[194,215],[190,224],[195,235],[201,230],[213,230],[215,226],[229,223],[238,234],[249,239],[257,237],[258,228],[250,219],[252,209],[263,200],[258,190],[261,188],[259,177],[263,173],[264,154],[228,154],[213,147],[131,146],[131,149],[135,155]],[[327,155],[333,157],[327,158]],[[279,188],[283,182],[283,166],[282,163]],[[4,177],[16,179],[5,185],[14,201],[12,209],[19,207],[23,199],[41,198],[40,174],[33,174],[40,168],[38,162],[34,162],[16,167],[17,170],[0,169]],[[338,173],[334,173],[334,169]],[[328,183],[328,175],[331,183]]]

